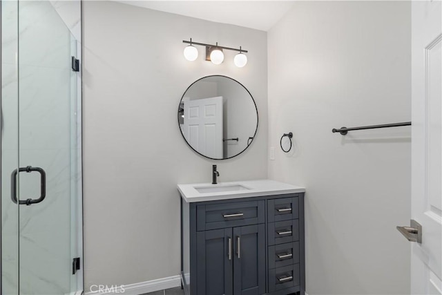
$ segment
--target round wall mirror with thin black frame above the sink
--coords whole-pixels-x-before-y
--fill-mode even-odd
[[[226,76],[203,77],[184,92],[178,107],[184,140],[204,157],[222,160],[250,146],[258,129],[258,109],[251,94]]]

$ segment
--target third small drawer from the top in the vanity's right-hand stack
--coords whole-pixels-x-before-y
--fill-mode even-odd
[[[299,263],[299,242],[269,247],[269,269]]]

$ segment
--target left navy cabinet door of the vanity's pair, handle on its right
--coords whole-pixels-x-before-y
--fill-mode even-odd
[[[197,233],[197,294],[233,294],[232,229]],[[192,282],[191,282],[192,284]]]

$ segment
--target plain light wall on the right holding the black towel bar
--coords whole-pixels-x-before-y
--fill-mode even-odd
[[[269,178],[307,188],[307,292],[409,294],[410,127],[332,128],[410,120],[410,2],[296,2],[268,50]]]

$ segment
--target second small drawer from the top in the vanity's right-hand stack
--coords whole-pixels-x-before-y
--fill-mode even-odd
[[[298,219],[269,223],[269,245],[299,240]]]

